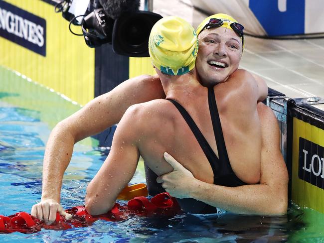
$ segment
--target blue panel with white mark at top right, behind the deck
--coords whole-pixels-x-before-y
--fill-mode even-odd
[[[305,0],[287,0],[281,12],[279,0],[250,0],[249,7],[269,36],[305,33]]]

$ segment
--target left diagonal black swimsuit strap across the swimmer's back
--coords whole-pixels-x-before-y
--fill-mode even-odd
[[[215,164],[217,164],[217,163],[215,163],[215,160],[218,161],[218,158],[217,158],[216,154],[214,153],[214,151],[212,150],[212,148],[208,144],[206,138],[203,136],[200,129],[198,128],[196,123],[193,121],[193,119],[190,117],[188,112],[179,103],[177,103],[176,101],[171,100],[171,99],[167,99],[167,100],[173,103],[173,105],[178,109],[178,111],[182,115],[185,122],[187,122],[187,124],[190,127],[192,133],[196,137],[202,151],[204,152],[204,154],[206,155],[206,157],[207,157],[207,159],[208,159],[208,161],[210,163],[211,169],[213,170],[213,173],[214,173],[214,180],[215,180],[215,175],[217,174],[217,170],[216,170],[216,167],[215,167]]]

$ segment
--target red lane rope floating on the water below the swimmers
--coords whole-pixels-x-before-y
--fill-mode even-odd
[[[85,210],[84,206],[76,206],[65,212],[72,215],[70,220],[65,220],[63,216],[56,214],[55,222],[51,225],[44,224],[26,212],[19,212],[10,216],[0,215],[0,233],[10,234],[20,232],[31,234],[43,229],[50,230],[67,230],[75,227],[86,227],[97,220],[121,221],[126,220],[134,215],[175,215],[180,213],[180,207],[175,198],[168,193],[161,193],[151,199],[139,196],[128,202],[127,205],[121,206],[116,203],[115,206],[106,214],[91,216]]]

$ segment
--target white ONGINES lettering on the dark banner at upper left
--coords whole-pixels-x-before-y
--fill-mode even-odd
[[[42,26],[1,8],[0,28],[39,47],[44,45],[44,28]]]

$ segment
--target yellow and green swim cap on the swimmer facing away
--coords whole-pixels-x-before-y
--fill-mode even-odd
[[[180,17],[168,16],[153,26],[149,38],[152,64],[162,73],[182,75],[194,68],[198,38],[194,28]]]

